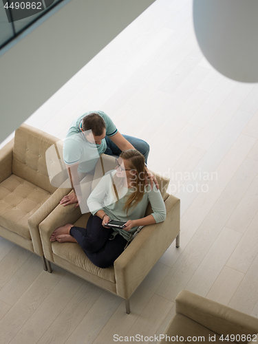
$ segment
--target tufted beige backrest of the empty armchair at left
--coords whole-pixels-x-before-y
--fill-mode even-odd
[[[54,193],[57,188],[50,184],[45,151],[58,141],[58,138],[44,131],[30,125],[21,125],[14,136],[12,173]]]

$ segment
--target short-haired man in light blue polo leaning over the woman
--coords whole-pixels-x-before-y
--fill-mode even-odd
[[[118,156],[127,149],[137,149],[147,163],[149,144],[138,138],[120,134],[114,122],[103,111],[89,111],[74,122],[65,138],[63,158],[75,193],[63,197],[60,204],[67,206],[82,200],[80,180],[92,175],[102,153]],[[155,177],[147,170],[148,178],[158,187]]]

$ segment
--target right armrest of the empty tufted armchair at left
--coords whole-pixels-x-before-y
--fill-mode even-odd
[[[61,199],[71,191],[71,188],[57,189],[43,204],[35,211],[35,213],[28,219],[28,226],[30,229],[30,236],[32,237],[32,244],[34,251],[38,255],[43,255],[41,238],[39,236],[39,224],[49,215],[56,206],[58,206]]]

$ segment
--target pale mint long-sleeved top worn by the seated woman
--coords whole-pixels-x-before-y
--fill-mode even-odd
[[[164,201],[162,200],[162,195],[160,191],[156,188],[155,184],[153,189],[147,185],[145,187],[145,192],[142,200],[136,205],[135,208],[131,207],[128,211],[128,217],[126,212],[123,210],[125,202],[127,201],[127,195],[133,192],[133,189],[127,189],[122,187],[118,190],[118,202],[116,194],[114,192],[114,186],[112,183],[112,176],[116,175],[116,171],[111,171],[101,178],[98,185],[89,195],[87,204],[89,206],[89,211],[93,215],[97,213],[100,209],[103,209],[110,219],[119,219],[120,221],[127,222],[129,219],[141,219],[145,216],[145,211],[148,202],[151,204],[151,208],[155,222],[159,223],[164,221],[166,218],[166,208]],[[131,230],[127,231],[124,229],[113,228],[115,232],[118,232],[122,237],[129,240],[131,235],[136,231],[138,227],[133,227]]]

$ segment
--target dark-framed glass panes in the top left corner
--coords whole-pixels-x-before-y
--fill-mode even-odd
[[[0,49],[64,0],[0,0]]]

